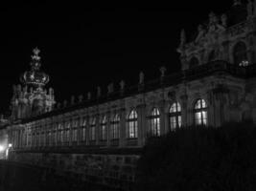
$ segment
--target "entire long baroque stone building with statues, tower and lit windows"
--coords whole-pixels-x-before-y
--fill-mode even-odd
[[[44,88],[39,51],[32,70],[14,86],[8,127],[11,160],[80,174],[112,186],[133,182],[136,160],[147,138],[176,128],[251,120],[256,123],[256,1],[234,1],[230,11],[209,14],[196,38],[184,30],[177,52],[181,71],[136,86],[109,84],[103,94],[56,104]],[[30,89],[30,91],[28,91]],[[113,182],[115,182],[113,184]],[[118,182],[118,183],[117,183]]]

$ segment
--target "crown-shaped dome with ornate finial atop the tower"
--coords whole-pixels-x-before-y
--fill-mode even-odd
[[[32,85],[35,88],[41,88],[49,82],[49,75],[43,72],[40,72],[40,56],[38,55],[40,51],[35,48],[33,50],[32,62],[31,62],[31,71],[26,71],[21,75],[20,80],[26,85]]]

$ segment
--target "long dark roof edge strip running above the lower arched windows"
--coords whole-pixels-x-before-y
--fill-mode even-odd
[[[130,86],[125,89],[124,92],[116,91],[110,95],[100,96],[98,98],[85,100],[82,102],[75,103],[74,105],[69,105],[64,108],[58,108],[51,112],[44,113],[35,117],[22,118],[21,123],[26,123],[45,117],[53,117],[68,112],[81,110],[83,108],[92,107],[95,105],[104,104],[109,101],[115,101],[118,99],[124,99],[129,96],[138,96],[140,94],[149,93],[151,91],[160,90],[161,88],[167,88],[182,82],[196,80],[201,77],[209,76],[210,74],[216,74],[218,72],[224,72],[226,74],[231,74],[239,78],[247,78],[256,74],[256,65],[251,64],[247,67],[235,66],[226,61],[216,60],[209,62],[207,64],[199,65],[193,69],[188,69],[185,71],[180,71],[175,74],[170,74],[163,76],[158,79],[151,80],[143,85]]]

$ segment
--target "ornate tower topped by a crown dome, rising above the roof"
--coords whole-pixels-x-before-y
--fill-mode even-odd
[[[55,104],[54,90],[44,88],[49,82],[49,75],[40,71],[40,51],[33,50],[31,70],[20,76],[23,84],[13,86],[12,119],[33,117],[50,112]]]

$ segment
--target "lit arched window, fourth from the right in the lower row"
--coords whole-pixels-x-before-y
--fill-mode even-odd
[[[128,115],[128,138],[138,138],[138,115],[132,110]]]

